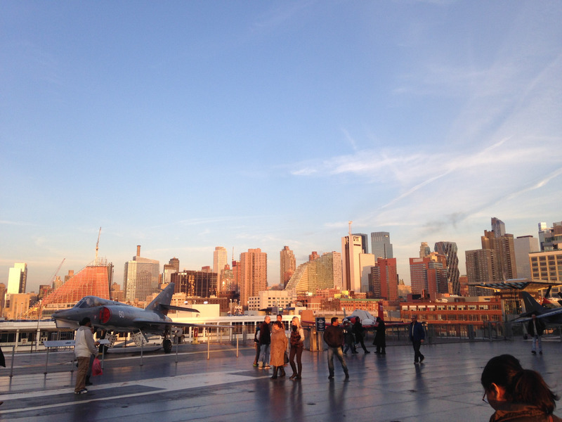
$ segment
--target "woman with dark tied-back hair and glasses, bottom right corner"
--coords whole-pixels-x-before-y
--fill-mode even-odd
[[[523,369],[511,354],[492,357],[481,376],[485,402],[495,409],[490,422],[561,422],[552,414],[558,397],[540,373]]]

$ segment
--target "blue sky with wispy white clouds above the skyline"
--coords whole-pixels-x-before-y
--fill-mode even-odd
[[[559,1],[12,1],[0,282],[99,255],[296,263],[388,231],[481,248],[562,220]]]

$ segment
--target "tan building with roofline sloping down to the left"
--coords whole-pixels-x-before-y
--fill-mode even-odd
[[[299,265],[285,290],[293,290],[296,295],[306,295],[337,286],[341,286],[341,254],[328,252]]]

